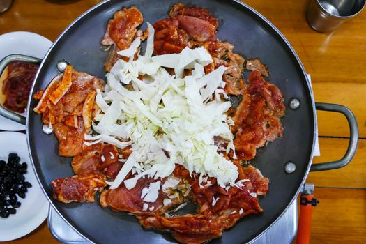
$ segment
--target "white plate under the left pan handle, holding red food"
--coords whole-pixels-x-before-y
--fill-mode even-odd
[[[51,45],[52,41],[36,33],[6,33],[0,36],[0,60],[10,54],[24,54],[43,59]],[[0,130],[25,130],[25,126],[0,116]]]

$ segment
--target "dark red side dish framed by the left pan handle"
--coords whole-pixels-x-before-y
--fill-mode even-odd
[[[14,61],[9,63],[7,69],[8,75],[3,80],[2,88],[6,98],[3,106],[14,112],[23,113],[38,65]]]

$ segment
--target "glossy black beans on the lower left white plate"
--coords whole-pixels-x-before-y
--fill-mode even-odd
[[[24,174],[28,165],[20,164],[17,153],[10,153],[8,163],[0,160],[0,217],[8,218],[10,214],[17,213],[15,208],[20,207],[18,197],[24,198],[27,188],[32,185],[25,181]],[[18,196],[18,197],[17,197]]]

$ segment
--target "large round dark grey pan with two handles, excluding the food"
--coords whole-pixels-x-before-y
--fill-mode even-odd
[[[104,78],[103,63],[107,53],[103,52],[100,40],[105,33],[107,22],[116,10],[137,6],[144,14],[144,21],[154,23],[167,17],[169,8],[176,0],[111,0],[98,4],[86,11],[73,24],[68,26],[43,59],[31,95],[45,89],[53,77],[59,75],[56,66],[59,61],[68,61],[76,70]],[[212,243],[246,243],[260,236],[296,199],[312,162],[314,133],[316,128],[315,105],[310,83],[303,65],[289,42],[257,11],[239,1],[183,1],[207,8],[219,19],[218,38],[229,40],[235,51],[247,58],[260,58],[270,70],[270,82],[276,84],[284,94],[287,105],[286,116],[282,119],[284,137],[262,148],[252,164],[264,176],[270,178],[270,190],[261,197],[264,212],[242,218],[236,225],[224,231],[222,238]],[[146,28],[146,24],[142,29]],[[6,61],[15,59],[8,57]],[[31,58],[23,60],[36,61]],[[6,62],[3,62],[4,67]],[[3,68],[2,67],[2,68]],[[1,68],[1,66],[0,66]],[[299,106],[296,105],[296,98]],[[291,102],[292,101],[292,102]],[[45,135],[42,121],[32,108],[36,100],[31,98],[26,114],[26,134],[29,152],[36,169],[38,180],[45,190],[49,201],[62,218],[82,236],[93,243],[173,243],[169,234],[161,231],[143,229],[137,219],[128,213],[115,213],[109,208],[95,204],[62,204],[52,198],[50,183],[54,178],[73,175],[71,158],[60,157],[57,153],[58,142],[54,135]],[[290,107],[291,104],[291,107]],[[342,167],[353,157],[358,140],[358,128],[352,112],[340,105],[317,104],[319,109],[342,112],[349,119],[351,140],[349,150],[342,160],[326,165],[312,165],[314,170]],[[0,112],[7,117],[20,121],[5,109]],[[284,171],[287,162],[293,162],[296,170],[292,174]]]

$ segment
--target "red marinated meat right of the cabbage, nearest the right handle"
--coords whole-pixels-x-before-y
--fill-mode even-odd
[[[241,160],[255,157],[257,148],[282,137],[280,118],[284,116],[283,96],[274,84],[266,82],[259,70],[248,78],[243,100],[234,114],[234,146]]]

